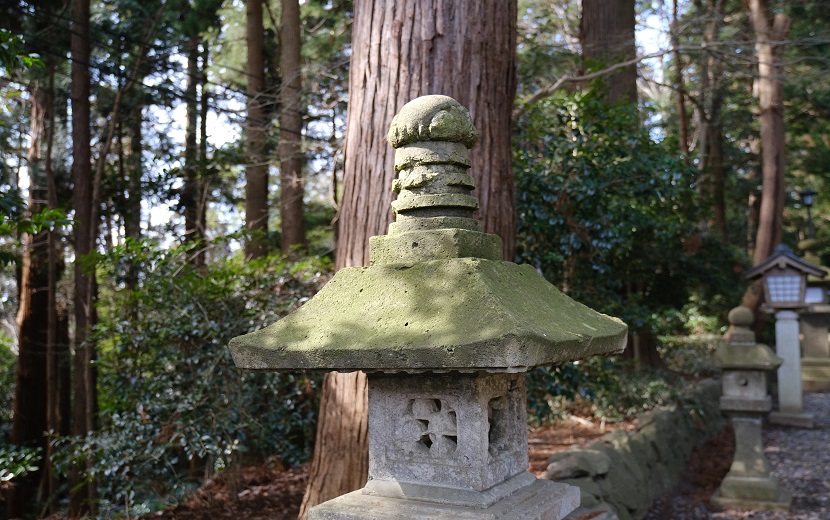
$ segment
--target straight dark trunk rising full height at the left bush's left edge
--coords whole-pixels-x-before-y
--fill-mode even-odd
[[[89,0],[72,5],[72,202],[75,209],[75,360],[72,433],[85,436],[95,429],[97,412],[95,345],[90,332],[95,323],[95,272],[84,269],[83,260],[92,251],[97,226],[93,215],[92,155],[90,151]],[[69,513],[80,517],[91,513],[94,485],[84,478],[79,464],[70,475]]]

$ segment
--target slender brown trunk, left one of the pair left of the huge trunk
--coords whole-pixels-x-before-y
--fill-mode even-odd
[[[258,258],[268,252],[268,164],[265,157],[266,118],[262,0],[247,0],[248,40],[248,153],[245,166],[245,229],[251,234],[245,257]]]

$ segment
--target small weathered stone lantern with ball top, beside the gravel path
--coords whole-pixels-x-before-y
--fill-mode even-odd
[[[789,510],[792,496],[770,474],[761,440],[763,417],[771,408],[767,372],[783,360],[768,346],[755,342],[749,328],[753,320],[748,308],[732,309],[732,334],[715,353],[723,369],[720,409],[735,429],[735,458],[712,501],[722,506]]]

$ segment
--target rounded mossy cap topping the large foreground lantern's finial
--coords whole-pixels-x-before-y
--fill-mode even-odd
[[[422,96],[401,108],[387,135],[393,148],[429,141],[461,143],[472,148],[478,140],[470,112],[449,96]]]

